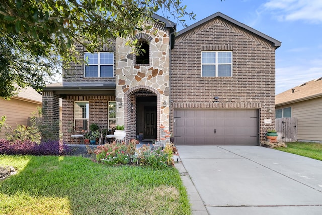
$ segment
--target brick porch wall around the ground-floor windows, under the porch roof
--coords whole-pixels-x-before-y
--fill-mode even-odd
[[[100,129],[106,129],[108,124],[108,102],[115,101],[115,95],[69,95],[63,100],[62,130],[65,142],[71,142],[69,128],[74,123],[74,103],[89,102],[89,125],[96,123]]]

